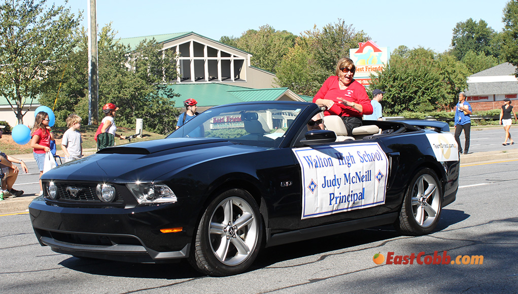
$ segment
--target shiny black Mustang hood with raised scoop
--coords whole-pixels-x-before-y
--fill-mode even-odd
[[[225,139],[172,138],[114,146],[70,161],[41,176],[42,180],[149,182],[161,175],[224,156],[264,150]]]

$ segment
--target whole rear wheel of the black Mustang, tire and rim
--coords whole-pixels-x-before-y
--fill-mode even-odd
[[[439,179],[433,170],[423,168],[408,186],[395,227],[409,236],[429,234],[439,223],[441,207]]]

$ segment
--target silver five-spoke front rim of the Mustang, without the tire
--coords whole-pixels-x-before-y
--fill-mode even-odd
[[[244,199],[225,198],[210,217],[208,233],[214,256],[227,266],[237,266],[257,246],[257,215]]]

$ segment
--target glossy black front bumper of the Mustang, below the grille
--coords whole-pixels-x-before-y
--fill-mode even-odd
[[[179,203],[137,208],[64,208],[38,197],[29,205],[42,246],[74,256],[128,262],[171,262],[189,255],[192,215]],[[182,231],[162,233],[163,228]]]

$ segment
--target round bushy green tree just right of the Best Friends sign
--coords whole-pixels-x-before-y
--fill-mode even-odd
[[[383,89],[383,112],[430,112],[451,107],[464,90],[467,68],[455,57],[417,48],[394,54],[379,75],[371,76],[370,89]]]

